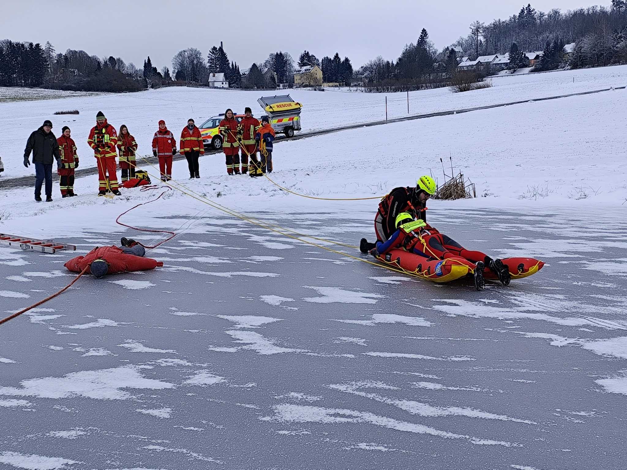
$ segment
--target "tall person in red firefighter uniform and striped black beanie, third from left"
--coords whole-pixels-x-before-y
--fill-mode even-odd
[[[115,128],[107,122],[102,111],[98,111],[96,115],[96,125],[89,133],[87,144],[92,147],[93,156],[96,157],[98,165],[98,196],[104,196],[108,190],[115,196],[122,196],[118,189],[115,167],[117,133],[115,133]]]

